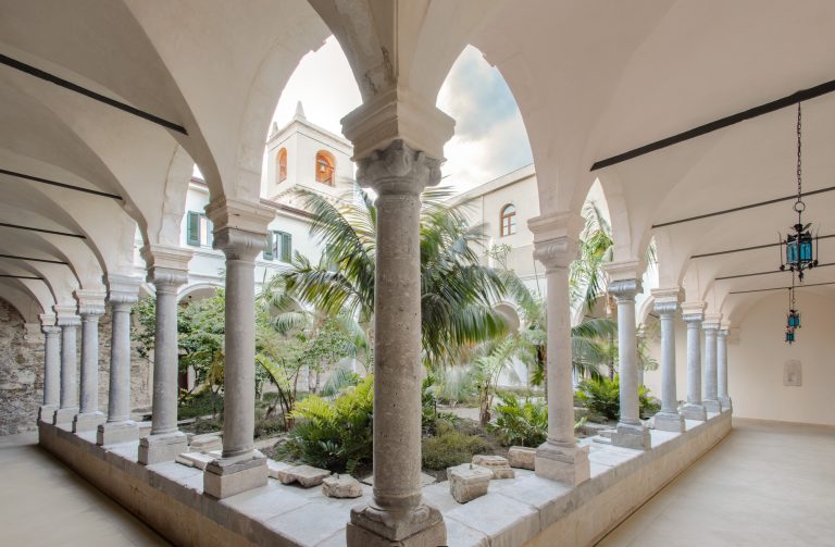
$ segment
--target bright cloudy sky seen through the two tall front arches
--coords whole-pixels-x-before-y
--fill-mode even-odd
[[[327,85],[322,74],[328,74]],[[285,126],[301,101],[307,119],[341,135],[339,120],[360,105],[360,90],[348,60],[332,36],[308,53],[287,83],[273,121]],[[438,108],[456,120],[443,166],[445,185],[466,190],[533,162],[513,95],[499,71],[468,47],[438,94]]]

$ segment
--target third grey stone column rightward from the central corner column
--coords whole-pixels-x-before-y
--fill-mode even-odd
[[[653,418],[656,430],[684,431],[684,417],[678,413],[675,385],[675,310],[678,288],[653,289],[656,312],[661,320],[661,411]]]

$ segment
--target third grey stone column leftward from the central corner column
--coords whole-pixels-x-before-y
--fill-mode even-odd
[[[139,438],[139,426],[130,420],[130,309],[139,300],[140,279],[128,275],[109,275],[107,281],[113,332],[108,421],[98,427],[96,443],[99,445]]]

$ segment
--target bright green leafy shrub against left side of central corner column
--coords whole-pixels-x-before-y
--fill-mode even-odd
[[[373,409],[373,376],[349,387],[333,401],[312,395],[296,405],[296,427],[279,455],[351,473],[371,461]]]

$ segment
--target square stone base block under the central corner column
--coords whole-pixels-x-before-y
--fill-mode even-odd
[[[447,526],[437,508],[422,504],[398,514],[374,506],[351,509],[348,547],[435,547],[447,544]]]

